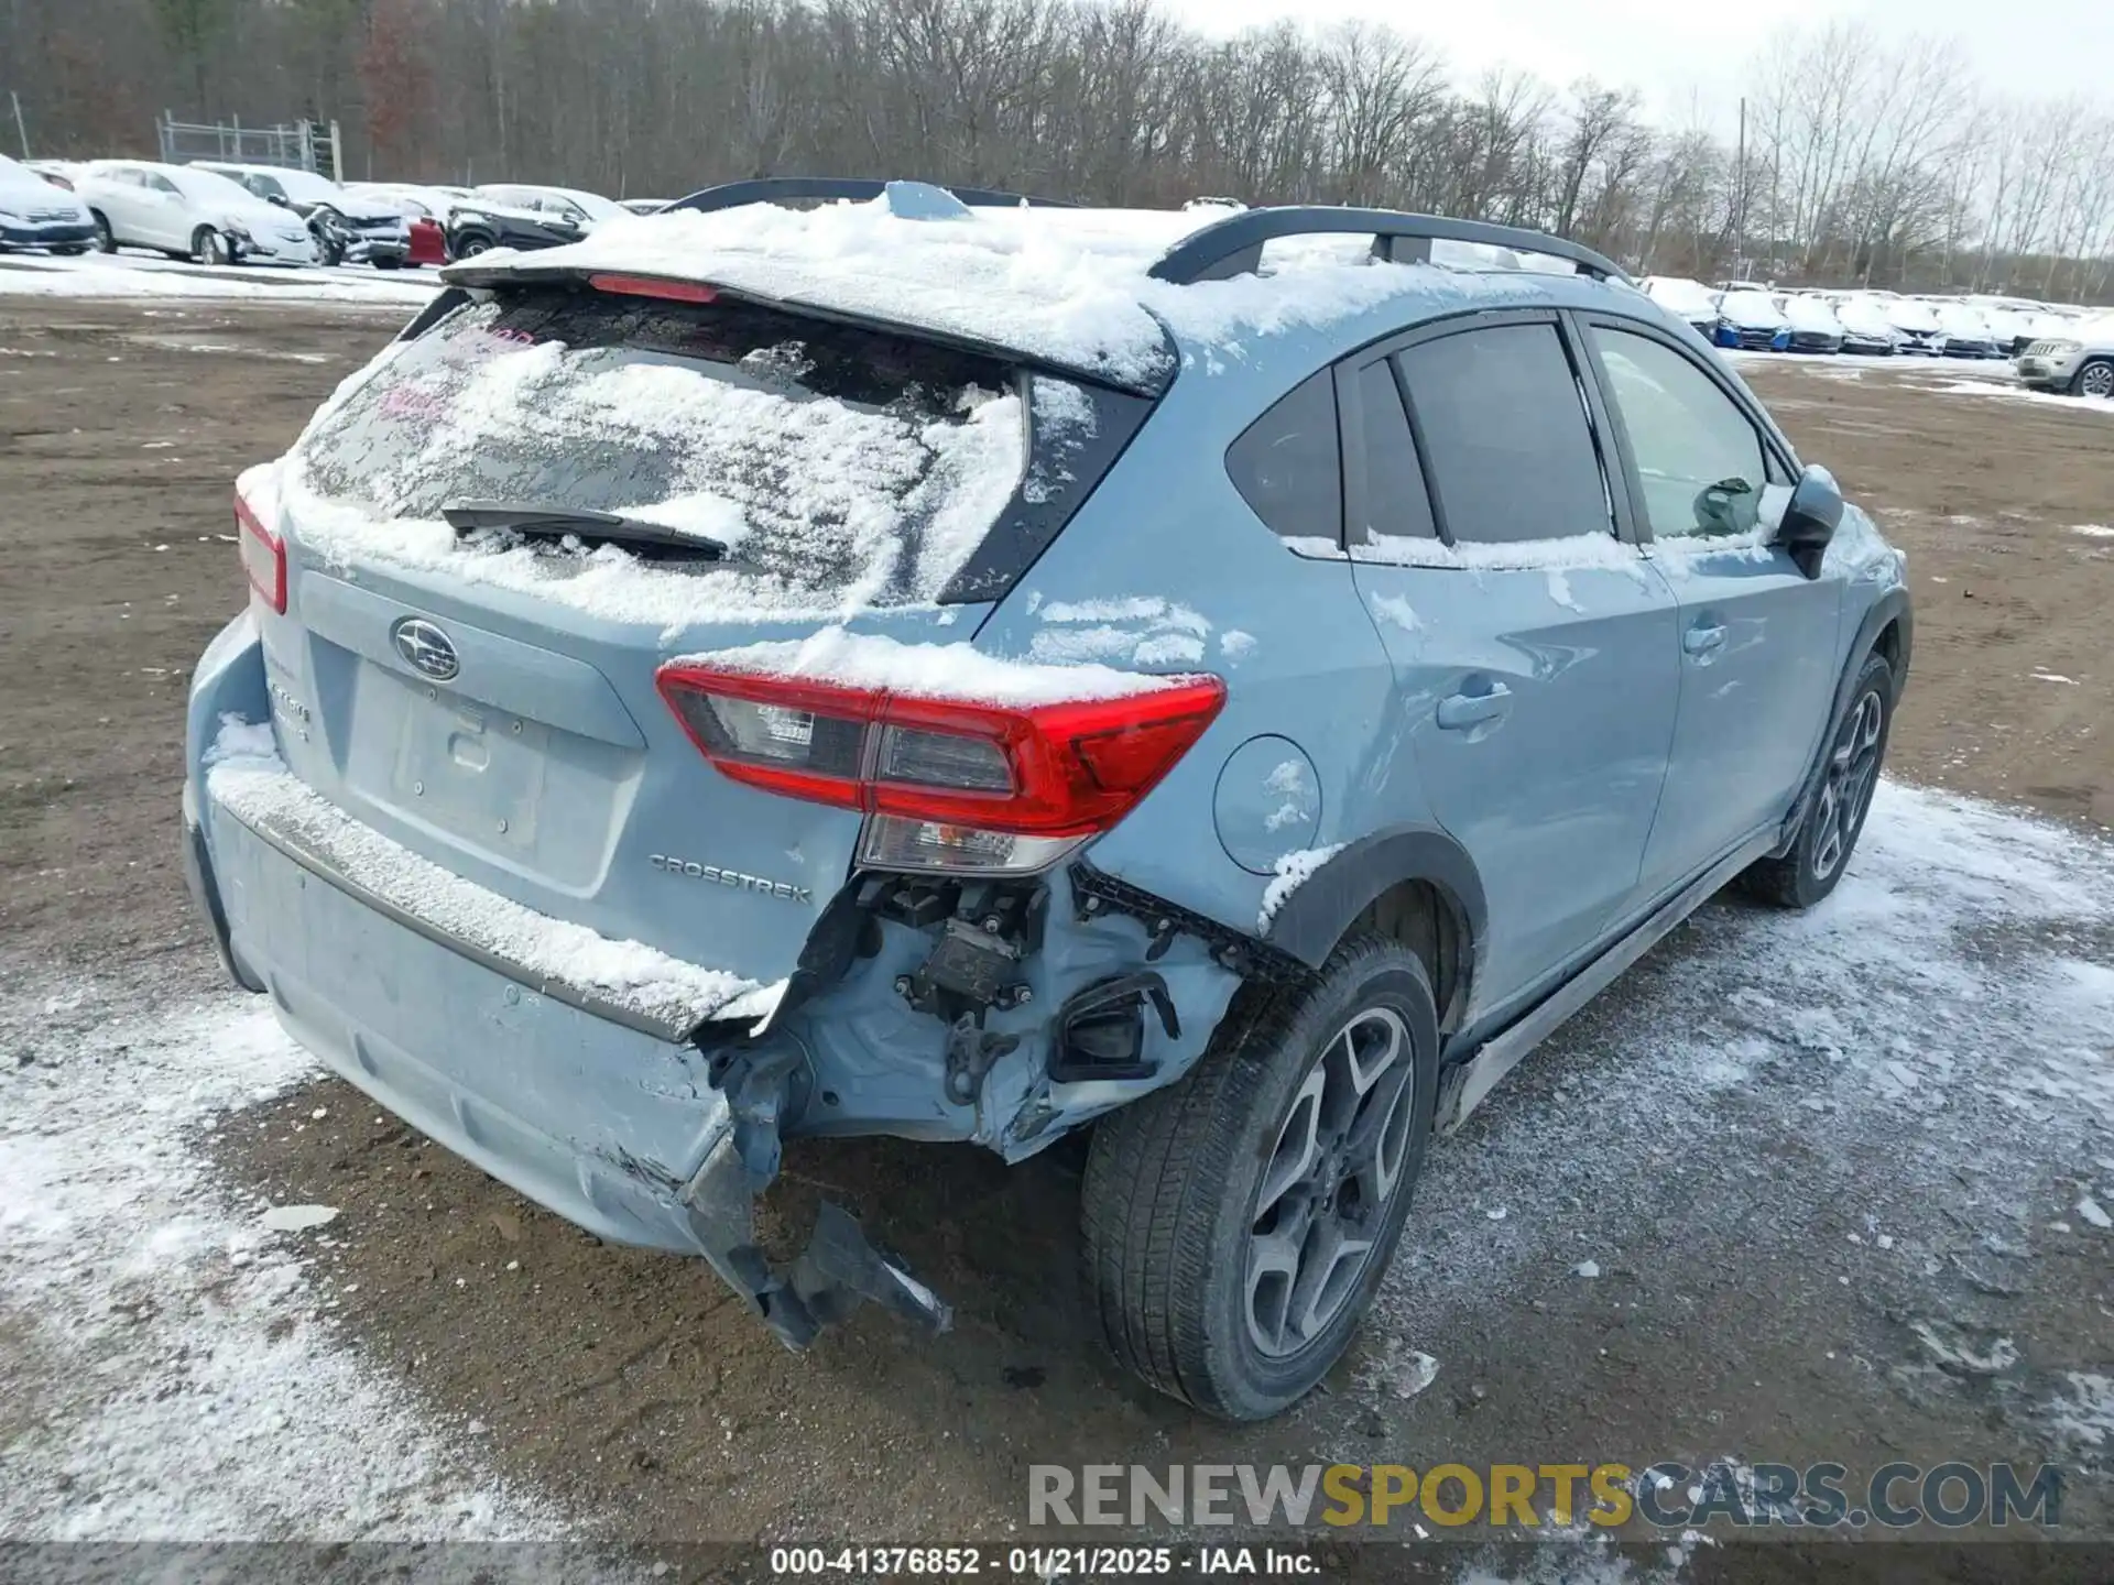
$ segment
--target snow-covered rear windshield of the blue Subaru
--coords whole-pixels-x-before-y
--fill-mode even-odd
[[[1027,463],[1015,370],[734,300],[531,285],[469,302],[328,406],[296,450],[376,518],[463,501],[617,511],[742,571],[930,600]]]

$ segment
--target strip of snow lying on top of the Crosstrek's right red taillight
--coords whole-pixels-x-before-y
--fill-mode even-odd
[[[1118,672],[1112,666],[1095,664],[1053,666],[1006,659],[985,655],[972,645],[905,645],[884,634],[854,634],[843,628],[822,628],[808,638],[676,655],[670,664],[837,683],[913,700],[964,700],[1000,706],[1120,700],[1133,693],[1152,693],[1180,680]]]

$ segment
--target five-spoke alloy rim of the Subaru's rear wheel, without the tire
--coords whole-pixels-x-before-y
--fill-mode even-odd
[[[1247,1236],[1247,1336],[1262,1355],[1298,1355],[1357,1291],[1402,1188],[1414,1071],[1402,1017],[1366,1008],[1292,1097]]]

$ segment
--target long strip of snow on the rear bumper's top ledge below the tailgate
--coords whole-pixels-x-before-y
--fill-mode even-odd
[[[226,723],[207,792],[245,824],[298,837],[353,885],[531,974],[670,1027],[689,1029],[715,1014],[761,1017],[774,1006],[755,981],[535,913],[389,841],[317,797],[277,754],[260,752],[258,733],[268,731]]]

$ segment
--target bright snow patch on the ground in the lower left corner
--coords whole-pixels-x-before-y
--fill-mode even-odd
[[[273,1232],[211,1181],[194,1133],[298,1126],[273,1097],[317,1071],[264,1004],[11,978],[0,1536],[567,1534],[340,1338],[328,1226]]]

